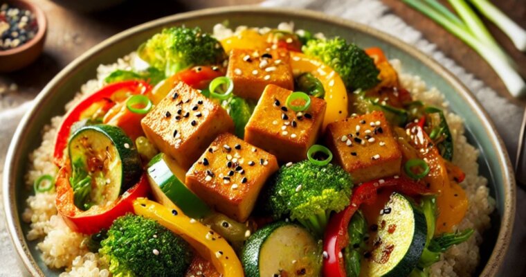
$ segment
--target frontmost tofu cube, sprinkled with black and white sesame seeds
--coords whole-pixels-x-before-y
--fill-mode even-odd
[[[221,134],[186,173],[186,186],[217,211],[244,222],[266,179],[278,170],[269,152]]]

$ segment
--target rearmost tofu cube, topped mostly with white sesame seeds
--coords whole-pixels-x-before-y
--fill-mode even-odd
[[[260,99],[267,84],[294,88],[289,52],[284,49],[233,49],[226,75],[234,82],[234,93],[243,98]]]

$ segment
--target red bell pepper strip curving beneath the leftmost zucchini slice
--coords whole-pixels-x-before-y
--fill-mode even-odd
[[[57,191],[55,205],[58,213],[71,230],[88,235],[109,228],[114,220],[121,215],[133,213],[134,200],[139,197],[147,197],[149,193],[148,179],[146,175],[143,175],[135,186],[129,188],[113,203],[103,207],[93,206],[88,211],[82,211],[73,202],[73,188],[69,183],[69,177],[70,166],[63,166],[59,170],[55,182]]]

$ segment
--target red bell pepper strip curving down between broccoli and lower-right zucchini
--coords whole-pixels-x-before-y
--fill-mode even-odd
[[[351,204],[343,211],[333,215],[327,225],[325,239],[323,240],[323,276],[347,276],[341,251],[349,244],[347,227],[352,215],[356,213],[361,204],[374,203],[377,199],[377,190],[386,187],[392,187],[394,190],[409,196],[430,193],[424,185],[404,177],[369,181],[357,187],[352,194]]]

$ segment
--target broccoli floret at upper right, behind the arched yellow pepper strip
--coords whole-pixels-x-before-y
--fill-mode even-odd
[[[309,40],[302,51],[331,66],[348,89],[370,89],[380,82],[374,60],[356,44],[347,44],[341,37]]]

